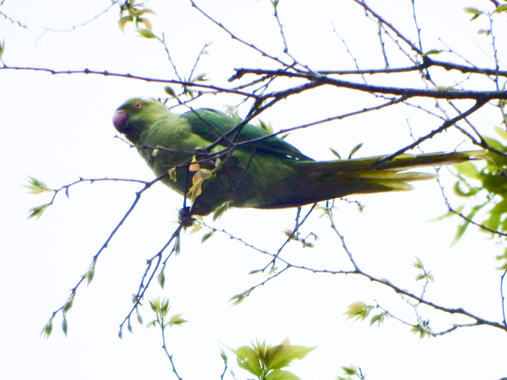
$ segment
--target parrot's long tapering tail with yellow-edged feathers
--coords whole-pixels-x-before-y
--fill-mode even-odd
[[[400,155],[379,164],[388,156],[336,161],[298,161],[294,163],[311,186],[292,185],[291,197],[265,207],[287,207],[340,198],[351,194],[371,194],[412,190],[412,181],[437,178],[436,174],[407,171],[423,166],[443,166],[484,158],[487,150],[459,153]]]

